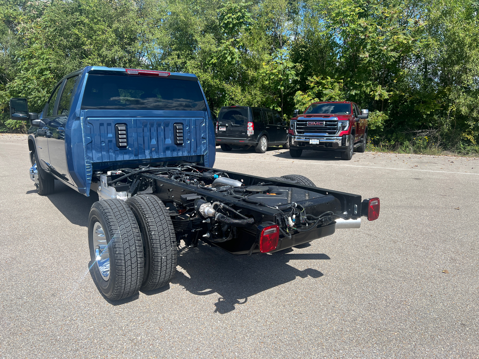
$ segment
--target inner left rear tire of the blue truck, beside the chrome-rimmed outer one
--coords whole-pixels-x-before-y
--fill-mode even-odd
[[[133,196],[126,203],[137,219],[145,252],[141,289],[152,291],[175,275],[178,254],[173,223],[163,202],[152,194]]]

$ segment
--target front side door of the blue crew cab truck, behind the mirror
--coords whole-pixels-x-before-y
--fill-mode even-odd
[[[50,164],[50,155],[48,153],[48,137],[52,135],[48,128],[48,122],[53,118],[53,114],[55,113],[54,111],[56,111],[56,106],[59,99],[58,92],[60,91],[61,85],[62,83],[59,83],[50,95],[50,99],[48,100],[46,109],[44,110],[42,121],[40,122],[40,127],[38,127],[36,132],[35,151],[38,155],[38,164],[46,170],[50,170],[48,167]]]

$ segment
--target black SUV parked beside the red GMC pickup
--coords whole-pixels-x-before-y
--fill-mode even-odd
[[[287,126],[278,112],[249,106],[222,107],[216,124],[216,142],[223,151],[254,146],[264,153],[270,145],[287,146]]]

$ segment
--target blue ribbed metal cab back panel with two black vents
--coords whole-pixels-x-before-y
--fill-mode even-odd
[[[106,117],[107,113],[101,112],[110,111],[84,111],[86,159],[93,169],[148,163],[150,158],[152,162],[183,160],[206,164],[205,113],[189,111],[172,116],[170,111],[161,114],[155,111],[144,113],[145,117],[130,117],[128,113]],[[125,136],[126,147],[118,146],[119,136]]]

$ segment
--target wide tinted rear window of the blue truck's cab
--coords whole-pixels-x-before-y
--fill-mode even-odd
[[[206,111],[203,93],[196,81],[93,74],[88,75],[81,108]]]

